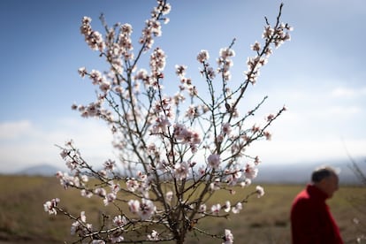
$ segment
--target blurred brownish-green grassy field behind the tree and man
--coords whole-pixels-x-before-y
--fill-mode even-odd
[[[237,196],[248,194],[255,186],[238,188]],[[294,195],[303,186],[263,187],[263,198],[250,198],[240,215],[230,219],[210,218],[200,225],[213,233],[231,229],[234,243],[291,243],[289,210]],[[365,195],[366,187],[341,186],[328,202],[346,243],[356,243],[356,237],[366,233]],[[54,197],[60,198],[60,205],[74,215],[85,210],[88,222],[93,225],[98,225],[102,212],[111,213],[111,209],[103,207],[100,199],[92,197],[86,200],[80,197],[78,191],[65,191],[57,179],[0,176],[0,243],[64,243],[64,240],[71,243],[72,221],[63,215],[49,216],[43,211],[43,203]],[[225,199],[226,196],[222,194],[217,197]],[[355,218],[360,221],[359,224],[355,223]],[[193,234],[187,238],[187,243],[221,242]],[[366,243],[366,240],[361,243]]]

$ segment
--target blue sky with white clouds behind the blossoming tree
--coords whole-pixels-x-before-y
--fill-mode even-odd
[[[233,82],[239,82],[247,57],[253,55],[250,45],[261,41],[263,17],[273,23],[281,2],[170,3],[171,21],[155,44],[168,56],[165,72],[173,74],[174,65],[184,64],[188,75],[199,79],[197,53],[209,50],[216,58],[235,37]],[[363,0],[283,3],[282,19],[294,27],[292,41],[275,50],[263,67],[248,93],[248,104],[269,95],[259,116],[284,104],[288,111],[271,127],[272,140],[259,141],[249,150],[261,156],[263,164],[345,159],[345,145],[352,156],[364,158],[366,4]],[[110,25],[132,24],[137,40],[154,5],[147,0],[0,2],[0,172],[46,163],[61,167],[55,144],[69,139],[94,164],[114,155],[107,127],[71,110],[72,103],[95,100],[94,88],[80,79],[78,68],[103,67],[103,60],[88,49],[80,34],[80,20],[89,16],[92,26],[102,30],[98,17],[103,12]],[[165,82],[178,81],[172,75]]]

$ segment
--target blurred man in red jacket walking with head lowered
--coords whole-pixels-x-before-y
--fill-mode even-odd
[[[311,183],[294,198],[291,209],[293,244],[343,244],[326,200],[339,188],[338,172],[329,166],[319,167]]]

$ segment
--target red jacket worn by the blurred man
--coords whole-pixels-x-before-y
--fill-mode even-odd
[[[343,244],[323,191],[308,185],[293,202],[291,231],[293,244]]]

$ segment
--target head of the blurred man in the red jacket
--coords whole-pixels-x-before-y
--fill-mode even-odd
[[[328,197],[332,197],[339,188],[337,171],[329,166],[316,168],[311,174],[311,181],[314,186],[322,190]]]

